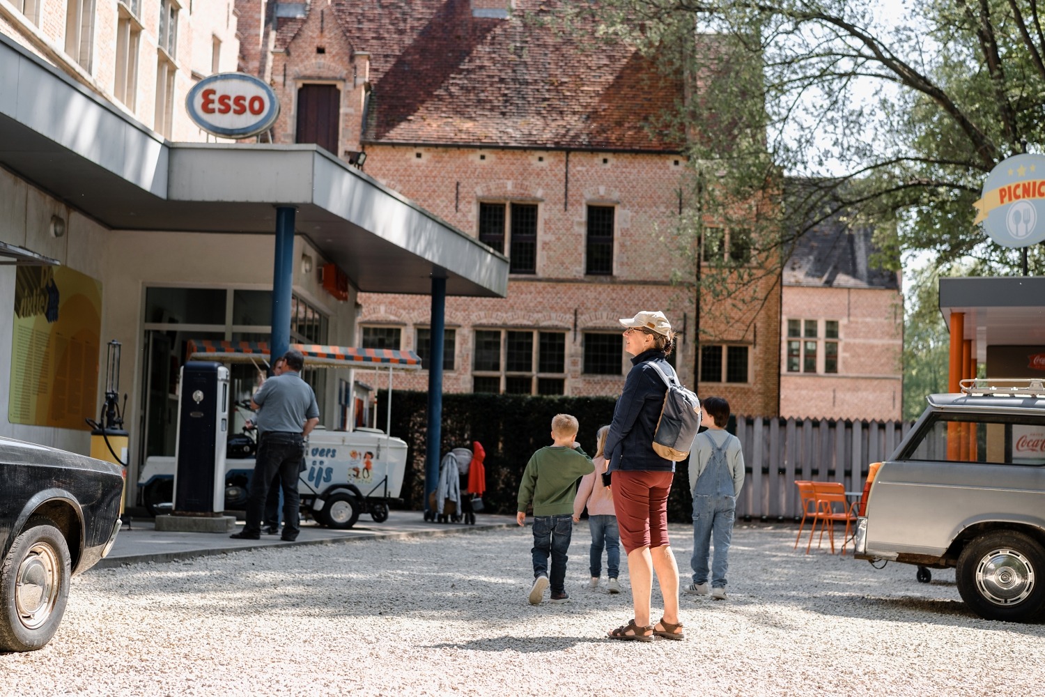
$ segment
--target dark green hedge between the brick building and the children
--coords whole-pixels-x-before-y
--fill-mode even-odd
[[[385,428],[388,390],[378,393],[377,427]],[[440,459],[455,447],[486,448],[486,512],[515,512],[519,479],[530,456],[552,442],[552,417],[573,414],[580,422],[578,440],[595,455],[595,434],[613,417],[611,397],[538,397],[507,394],[444,394]],[[407,472],[400,496],[408,510],[424,508],[424,455],[428,425],[426,392],[392,391],[391,434],[407,441]],[[668,519],[689,522],[692,503],[687,463],[678,463],[676,485],[668,499]]]

